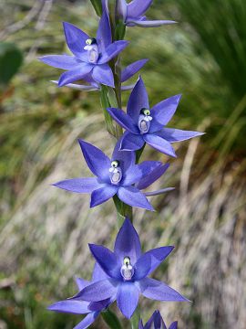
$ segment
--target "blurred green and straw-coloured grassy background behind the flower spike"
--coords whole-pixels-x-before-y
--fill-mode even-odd
[[[157,185],[176,191],[153,199],[159,212],[135,211],[145,249],[176,246],[155,276],[193,302],[143,300],[142,313],[147,319],[159,307],[180,328],[244,329],[246,3],[155,0],[149,16],[180,23],[128,29],[132,42],[123,64],[149,58],[142,75],[151,103],[182,92],[171,123],[207,134],[177,145],[179,159],[169,160]],[[75,292],[74,275],[89,278],[87,242],[112,247],[116,218],[110,201],[89,210],[88,196],[49,185],[89,174],[78,137],[108,154],[112,147],[97,92],[57,89],[49,80],[58,69],[36,57],[67,51],[61,21],[93,32],[97,18],[85,0],[0,0],[0,17],[0,328],[70,329],[79,316],[49,313],[46,306]],[[6,41],[24,63],[3,82],[3,62],[13,58],[1,55]],[[13,63],[22,61],[15,56],[13,74]],[[124,97],[126,103],[128,92]],[[149,149],[147,156],[157,154]]]

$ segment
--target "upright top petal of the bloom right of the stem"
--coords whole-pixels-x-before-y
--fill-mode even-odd
[[[149,109],[149,99],[143,80],[139,77],[128,101],[128,115],[136,124],[138,124],[139,112],[143,108]]]

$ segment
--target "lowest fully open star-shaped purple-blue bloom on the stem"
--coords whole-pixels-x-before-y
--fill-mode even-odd
[[[136,310],[140,294],[157,301],[188,301],[166,283],[149,278],[174,247],[142,253],[138,233],[128,218],[118,232],[113,252],[93,244],[89,248],[108,279],[88,285],[74,296],[74,300],[97,302],[116,298],[118,308],[127,318]]]

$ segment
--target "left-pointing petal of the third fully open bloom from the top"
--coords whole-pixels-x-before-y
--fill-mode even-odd
[[[66,179],[54,184],[54,186],[65,189],[74,193],[92,193],[100,185],[97,183],[97,178],[72,178]]]

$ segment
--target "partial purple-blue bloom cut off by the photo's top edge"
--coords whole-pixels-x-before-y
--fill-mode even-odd
[[[145,13],[149,9],[153,0],[133,0],[127,3],[126,0],[118,0],[118,16],[128,27],[160,27],[162,25],[173,24],[170,20],[149,20]],[[108,9],[108,0],[102,0],[103,8]]]

